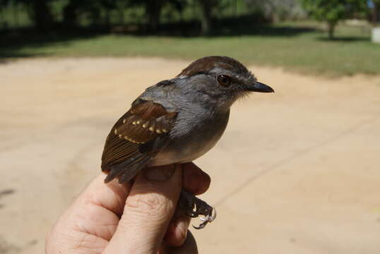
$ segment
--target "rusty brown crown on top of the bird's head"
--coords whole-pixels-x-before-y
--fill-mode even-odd
[[[188,78],[198,73],[208,73],[215,67],[224,68],[236,75],[251,75],[242,63],[228,56],[206,56],[190,63],[177,75],[177,78]]]

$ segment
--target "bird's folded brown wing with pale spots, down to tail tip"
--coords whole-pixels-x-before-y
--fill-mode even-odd
[[[119,177],[129,181],[159,151],[166,133],[172,128],[176,112],[167,112],[161,104],[138,99],[107,136],[102,154],[105,182]],[[155,148],[153,148],[155,147]]]

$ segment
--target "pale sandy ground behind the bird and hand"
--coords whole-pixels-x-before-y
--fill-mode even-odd
[[[43,252],[46,232],[99,174],[114,121],[187,64],[0,65],[0,253]],[[220,143],[196,161],[218,209],[194,232],[200,252],[380,253],[380,78],[250,68],[276,92],[235,104]]]

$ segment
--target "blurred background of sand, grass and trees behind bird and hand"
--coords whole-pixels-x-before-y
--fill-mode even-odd
[[[380,253],[379,11],[378,0],[0,0],[0,254],[41,253],[100,174],[114,121],[209,55],[242,61],[275,94],[234,104],[196,160],[218,210],[193,231],[200,253]]]

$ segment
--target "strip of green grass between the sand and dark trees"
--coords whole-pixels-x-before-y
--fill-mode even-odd
[[[194,60],[227,55],[243,63],[279,66],[323,75],[380,73],[380,44],[370,42],[369,28],[340,26],[337,40],[315,24],[282,23],[251,30],[225,31],[231,36],[165,37],[98,35],[56,38],[0,47],[0,56],[160,56]]]

